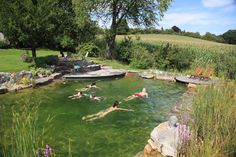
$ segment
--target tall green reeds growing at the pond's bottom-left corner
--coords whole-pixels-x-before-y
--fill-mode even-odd
[[[9,126],[2,128],[4,157],[36,156],[42,145],[42,134],[38,130],[38,104],[24,100],[12,107]],[[6,123],[6,121],[5,121]]]

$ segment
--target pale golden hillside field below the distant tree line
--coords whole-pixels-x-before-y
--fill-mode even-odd
[[[140,42],[146,42],[150,44],[159,44],[159,43],[171,43],[179,46],[193,46],[198,48],[210,48],[218,50],[235,50],[236,45],[217,43],[208,40],[202,40],[198,38],[180,36],[180,35],[170,35],[170,34],[138,34],[138,35],[128,35],[133,40],[140,38]],[[121,41],[124,38],[124,35],[118,35],[117,41]]]

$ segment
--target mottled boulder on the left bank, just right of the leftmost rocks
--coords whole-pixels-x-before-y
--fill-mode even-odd
[[[30,71],[20,71],[11,74],[11,83],[19,83],[23,78],[31,79],[33,76]]]

